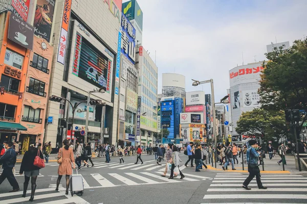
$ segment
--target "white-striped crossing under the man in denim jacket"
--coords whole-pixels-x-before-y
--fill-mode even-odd
[[[258,189],[256,179],[249,184],[251,190],[242,188],[247,174],[217,173],[203,197],[209,203],[307,203],[307,177],[303,175],[261,175],[268,189]]]

